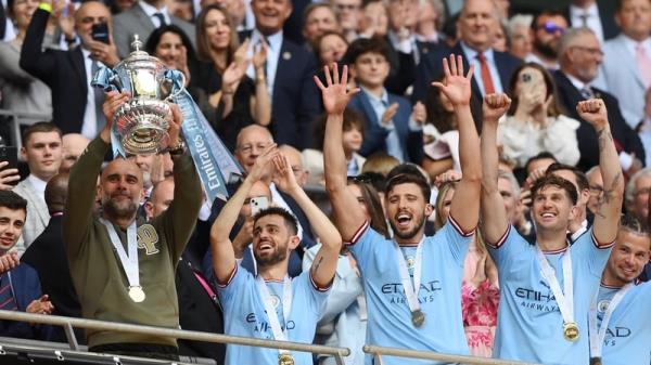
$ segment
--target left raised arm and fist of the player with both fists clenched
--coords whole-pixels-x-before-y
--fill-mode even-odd
[[[511,105],[511,100],[506,94],[489,94],[484,97],[482,123],[482,234],[489,244],[496,244],[509,227],[509,219],[505,209],[499,190],[498,179],[498,152],[497,152],[497,123],[499,118]]]

